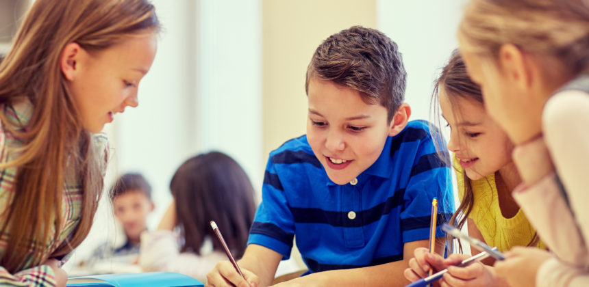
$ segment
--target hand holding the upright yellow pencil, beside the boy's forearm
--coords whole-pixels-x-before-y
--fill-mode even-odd
[[[431,254],[427,248],[418,247],[413,251],[413,258],[409,260],[409,268],[405,269],[405,278],[414,282],[429,275],[429,269],[434,273],[446,269],[444,258],[439,254]]]

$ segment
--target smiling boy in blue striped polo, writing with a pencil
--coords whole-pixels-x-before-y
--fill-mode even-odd
[[[409,283],[407,261],[429,243],[431,201],[438,198],[443,221],[453,195],[429,125],[408,122],[405,75],[397,44],[375,29],[351,27],[318,46],[305,83],[307,135],[270,154],[238,262],[245,280],[219,262],[208,285],[272,284],[293,238],[309,270],[290,284]]]

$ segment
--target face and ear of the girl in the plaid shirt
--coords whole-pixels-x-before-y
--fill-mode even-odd
[[[84,128],[99,133],[125,107],[137,107],[140,80],[149,71],[157,39],[142,33],[97,52],[70,43],[62,55],[66,77]]]

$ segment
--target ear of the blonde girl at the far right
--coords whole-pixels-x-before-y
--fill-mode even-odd
[[[527,57],[514,44],[503,44],[499,48],[499,66],[503,77],[522,90],[531,87],[531,70]]]

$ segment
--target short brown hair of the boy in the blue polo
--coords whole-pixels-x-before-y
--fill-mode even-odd
[[[307,68],[305,91],[312,77],[360,92],[368,104],[387,110],[388,122],[405,94],[407,72],[397,44],[381,31],[353,26],[321,43]]]

